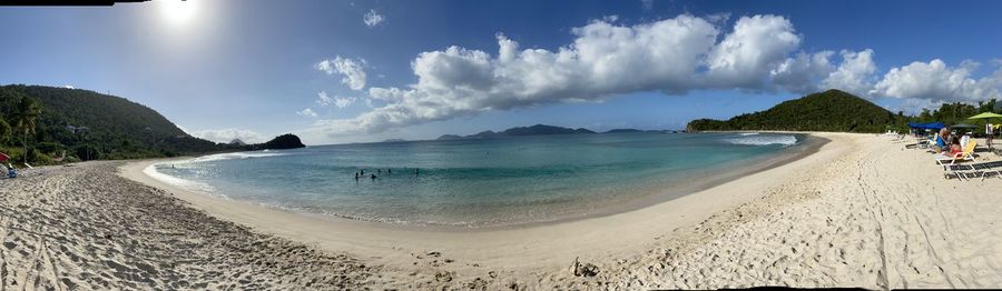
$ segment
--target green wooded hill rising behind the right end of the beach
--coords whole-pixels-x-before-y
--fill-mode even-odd
[[[906,118],[863,98],[828,90],[785,101],[768,110],[746,113],[729,120],[690,121],[686,131],[706,130],[788,130],[835,132],[883,132],[887,127],[904,128]]]

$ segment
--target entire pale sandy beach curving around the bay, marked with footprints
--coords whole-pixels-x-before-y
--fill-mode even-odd
[[[1002,179],[945,180],[931,154],[887,137],[813,134],[832,142],[679,199],[480,231],[216,199],[145,175],[156,161],[45,168],[0,180],[0,278],[29,289],[1002,287]]]

